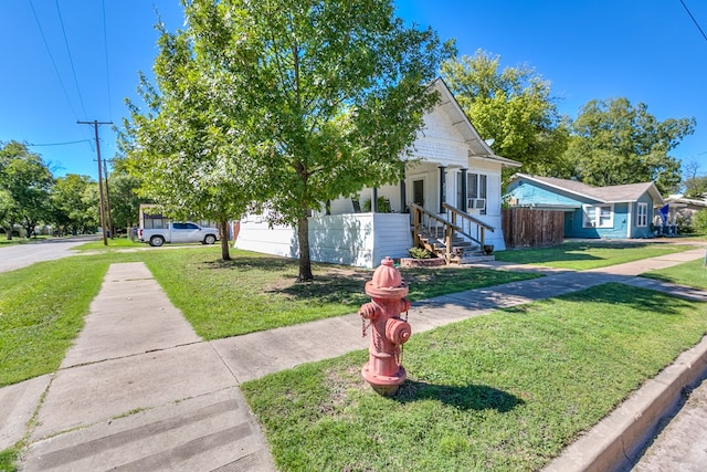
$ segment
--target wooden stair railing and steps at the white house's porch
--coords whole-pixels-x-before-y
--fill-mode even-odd
[[[486,231],[494,231],[494,228],[449,203],[443,203],[443,208],[446,213],[441,216],[430,212],[416,203],[410,203],[413,244],[415,247],[430,245],[431,248],[428,249],[433,249],[437,253],[443,251],[444,259],[449,264],[457,255],[453,245],[454,238],[461,235],[483,248]],[[430,238],[441,240],[444,248],[430,243]],[[426,244],[423,239],[428,240]]]

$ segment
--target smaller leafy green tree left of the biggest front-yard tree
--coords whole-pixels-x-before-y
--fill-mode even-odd
[[[129,103],[119,167],[139,179],[138,195],[163,213],[217,221],[221,258],[230,260],[226,222],[239,219],[264,188],[255,159],[261,135],[256,116],[241,104],[238,71],[223,62],[228,32],[223,38],[223,31],[199,28],[197,6],[188,3],[186,10],[187,30],[159,27],[155,84],[140,76],[148,109]]]

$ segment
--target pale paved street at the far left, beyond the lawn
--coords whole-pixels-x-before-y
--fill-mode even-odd
[[[72,255],[74,254],[74,252],[71,251],[72,248],[88,241],[95,241],[98,238],[98,235],[94,234],[74,238],[56,238],[0,248],[0,272],[10,272],[27,268],[35,262],[51,261]]]

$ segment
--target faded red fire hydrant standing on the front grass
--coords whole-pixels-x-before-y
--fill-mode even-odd
[[[410,302],[405,298],[408,285],[393,266],[392,259],[381,261],[373,272],[373,279],[366,283],[366,294],[372,301],[361,305],[358,314],[363,319],[363,336],[367,319],[372,329],[369,358],[361,374],[373,390],[392,396],[408,376],[402,366],[400,347],[412,334],[410,324],[400,317],[401,313],[410,310]]]

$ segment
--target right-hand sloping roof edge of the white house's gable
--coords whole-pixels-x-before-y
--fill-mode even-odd
[[[477,157],[500,162],[504,167],[520,167],[523,164],[507,157],[497,156],[494,150],[484,141],[472,122],[462,109],[458,102],[450,91],[450,87],[437,77],[430,85],[440,94],[437,106],[442,108],[451,118],[452,127],[463,137],[464,143],[469,147],[469,157]]]

